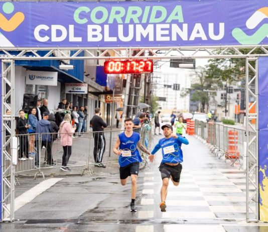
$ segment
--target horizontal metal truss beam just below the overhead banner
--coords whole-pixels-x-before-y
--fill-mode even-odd
[[[246,51],[244,49],[250,49]],[[258,54],[260,49],[263,54]],[[67,51],[76,51],[69,55]],[[42,56],[38,51],[47,51]],[[138,52],[137,52],[138,51]],[[14,55],[12,52],[17,52]],[[79,56],[84,52],[84,56]],[[200,46],[200,47],[131,47],[131,48],[0,48],[1,59],[59,60],[59,59],[176,59],[176,58],[245,58],[268,56],[268,46]],[[28,53],[28,55],[26,55]],[[31,56],[29,56],[29,53]],[[57,55],[55,55],[57,54]],[[135,54],[135,55],[131,55]],[[54,56],[53,56],[54,55]]]

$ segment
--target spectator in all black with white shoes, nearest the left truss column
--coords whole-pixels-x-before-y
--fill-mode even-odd
[[[27,124],[27,120],[25,119],[25,112],[23,109],[20,110],[20,118],[17,124],[17,130],[20,135],[20,158],[19,160],[32,160],[32,157],[29,157],[29,150],[28,150],[28,128],[30,126]],[[23,153],[25,154],[26,158],[23,157]]]

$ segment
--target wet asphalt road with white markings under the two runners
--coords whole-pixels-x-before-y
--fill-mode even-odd
[[[161,136],[154,136],[154,143]],[[245,221],[245,177],[238,167],[219,160],[194,137],[183,146],[178,187],[170,183],[167,212],[159,209],[161,154],[140,172],[136,205],[131,213],[130,183],[119,174],[64,177],[15,212],[16,221],[0,231],[268,231],[263,223]],[[21,178],[16,197],[42,179]],[[31,192],[29,193],[29,197]]]

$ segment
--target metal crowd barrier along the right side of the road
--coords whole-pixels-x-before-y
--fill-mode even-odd
[[[243,151],[243,144],[246,141],[245,129],[196,120],[195,135],[208,143],[211,152],[219,159],[224,156],[225,161],[230,160],[232,166],[235,162],[242,166],[243,155],[245,154],[245,151]],[[254,136],[255,133],[250,132],[249,140]],[[251,146],[251,151],[255,153],[255,144],[252,143]]]

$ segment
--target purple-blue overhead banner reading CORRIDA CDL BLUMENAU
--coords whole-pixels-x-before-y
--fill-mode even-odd
[[[268,0],[1,2],[0,47],[268,44]]]

